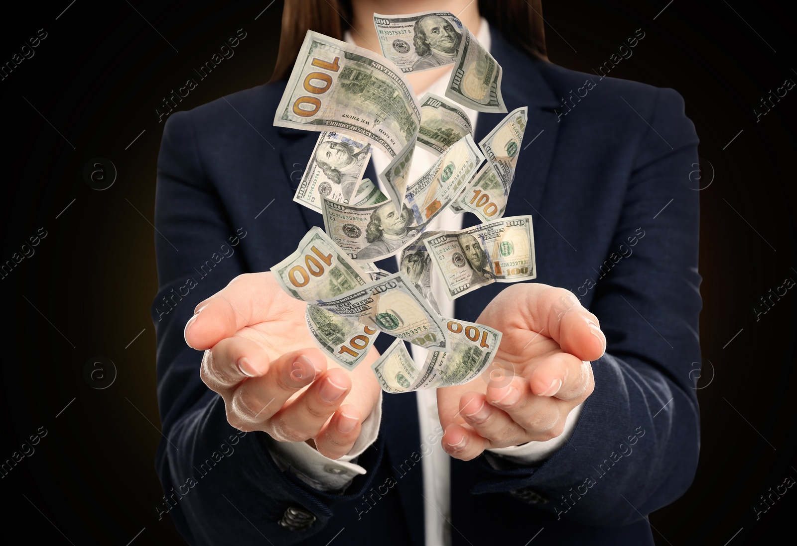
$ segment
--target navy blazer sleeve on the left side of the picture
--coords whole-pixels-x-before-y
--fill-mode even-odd
[[[198,302],[249,271],[241,252],[247,233],[230,224],[202,168],[206,154],[198,150],[192,115],[169,117],[158,159],[159,290],[151,314],[163,427],[156,470],[165,495],[155,509],[159,519],[171,516],[190,544],[230,544],[231,537],[235,544],[262,544],[263,536],[275,546],[295,544],[324,528],[337,504],[367,491],[379,459],[359,459],[367,474],[357,476],[345,494],[314,489],[281,472],[265,433],[231,427],[222,398],[202,383],[202,353],[186,345],[183,328]],[[383,440],[374,445],[381,454]],[[291,507],[312,514],[313,524],[305,530],[279,525]]]

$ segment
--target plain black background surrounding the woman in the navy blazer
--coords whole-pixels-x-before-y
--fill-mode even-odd
[[[549,57],[567,68],[593,73],[643,29],[633,56],[609,76],[681,92],[701,138],[702,172],[683,173],[702,174],[703,187],[701,459],[689,492],[651,515],[657,544],[764,544],[790,532],[797,508],[797,488],[757,520],[752,508],[769,488],[797,480],[797,288],[772,298],[766,313],[754,310],[768,309],[760,298],[784,279],[797,280],[797,88],[779,101],[773,95],[758,121],[754,113],[767,111],[761,98],[785,79],[797,82],[795,7],[785,3],[544,2]],[[47,33],[0,81],[0,263],[46,231],[33,255],[0,275],[0,459],[47,431],[0,479],[6,540],[24,533],[46,544],[182,544],[155,511],[163,495],[150,318],[163,131],[155,108],[187,78],[198,80],[192,68],[238,29],[246,37],[234,57],[177,109],[263,84],[281,8],[269,0],[63,0],[2,14],[2,63],[38,29]],[[96,157],[117,170],[101,191],[84,178]],[[98,356],[112,365],[92,367]],[[697,377],[700,364],[683,363],[684,373]]]

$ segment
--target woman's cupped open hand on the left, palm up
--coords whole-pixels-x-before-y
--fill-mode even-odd
[[[316,349],[305,306],[270,272],[239,275],[196,307],[186,343],[206,349],[202,381],[222,396],[233,427],[308,441],[340,458],[379,401],[371,372],[379,353],[372,349],[353,372],[341,369]]]

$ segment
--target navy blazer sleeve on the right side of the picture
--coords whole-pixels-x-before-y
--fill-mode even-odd
[[[607,260],[627,257],[596,283],[590,306],[607,337],[607,352],[592,363],[595,391],[570,443],[535,467],[483,462],[491,478],[475,491],[533,498],[536,509],[586,525],[627,525],[675,501],[693,481],[700,449],[689,375],[701,361],[699,192],[689,181],[699,141],[677,92],[650,95],[654,114]]]

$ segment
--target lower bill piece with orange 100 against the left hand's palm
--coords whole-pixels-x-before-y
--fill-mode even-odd
[[[307,306],[304,318],[319,349],[349,371],[363,361],[379,335],[379,330],[371,326],[315,305]]]

